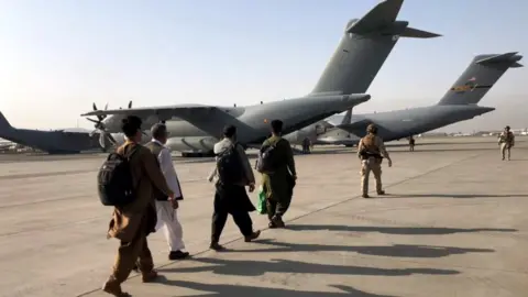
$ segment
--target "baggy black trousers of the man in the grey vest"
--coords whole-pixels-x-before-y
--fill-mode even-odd
[[[211,242],[219,242],[228,216],[233,217],[234,223],[244,237],[253,233],[253,221],[249,211],[252,211],[245,188],[242,186],[218,186],[215,194],[215,211],[212,213]],[[251,205],[249,207],[245,202]]]

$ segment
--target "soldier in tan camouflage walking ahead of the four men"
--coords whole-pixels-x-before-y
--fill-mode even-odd
[[[387,158],[388,167],[393,166],[393,161],[385,150],[383,140],[377,136],[377,127],[370,124],[366,128],[366,136],[360,140],[358,145],[358,157],[361,160],[361,190],[363,198],[369,196],[369,175],[371,172],[376,179],[377,195],[385,195],[382,187],[382,161]]]

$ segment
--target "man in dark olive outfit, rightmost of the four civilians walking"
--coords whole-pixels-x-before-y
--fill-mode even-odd
[[[262,173],[262,186],[267,198],[267,217],[270,228],[284,228],[283,217],[292,204],[297,180],[294,152],[286,139],[282,138],[283,121],[273,120],[272,136],[264,141],[261,152],[273,146],[273,172]]]

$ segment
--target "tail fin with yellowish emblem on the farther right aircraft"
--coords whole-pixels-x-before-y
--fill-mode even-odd
[[[506,70],[522,67],[521,58],[517,52],[475,56],[438,105],[479,103]]]

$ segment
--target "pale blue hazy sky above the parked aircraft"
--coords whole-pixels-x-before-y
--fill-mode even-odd
[[[91,129],[79,114],[92,102],[242,106],[306,95],[346,22],[376,2],[2,0],[0,111],[15,127]],[[474,55],[527,54],[527,11],[526,0],[406,0],[399,20],[443,36],[400,38],[354,112],[433,105]],[[508,117],[528,127],[527,74],[508,70],[481,101],[493,114],[449,129]]]

